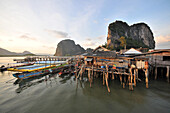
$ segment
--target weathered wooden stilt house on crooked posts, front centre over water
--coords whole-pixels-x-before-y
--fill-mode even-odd
[[[101,48],[99,48],[101,50]],[[139,70],[144,72],[146,88],[149,88],[149,65],[148,58],[145,57],[120,57],[111,51],[93,51],[91,54],[84,55],[84,59],[77,59],[76,78],[82,80],[87,75],[90,87],[92,87],[93,79],[97,77],[103,78],[103,85],[106,85],[108,92],[110,79],[120,80],[123,88],[129,86],[129,90],[136,87],[142,76]]]

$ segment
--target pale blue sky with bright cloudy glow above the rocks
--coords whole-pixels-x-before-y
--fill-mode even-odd
[[[0,48],[54,54],[64,39],[96,48],[116,20],[148,24],[156,49],[170,49],[170,0],[0,0]]]

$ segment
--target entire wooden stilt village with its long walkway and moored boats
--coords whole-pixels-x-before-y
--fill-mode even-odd
[[[28,73],[31,76],[27,77],[25,74],[15,74],[15,77],[20,79],[47,73],[72,73],[76,80],[83,80],[83,77],[86,76],[89,87],[93,87],[94,79],[100,77],[103,79],[101,84],[106,85],[108,92],[111,92],[109,82],[113,80],[119,80],[122,88],[128,87],[129,90],[134,90],[140,81],[144,81],[146,88],[149,88],[151,78],[156,80],[162,76],[166,77],[167,82],[169,82],[170,49],[150,50],[148,52],[145,50],[146,48],[131,48],[115,52],[99,46],[92,52],[75,56],[32,56],[25,59],[14,59],[17,62],[45,62],[45,64],[48,62],[49,65],[38,68],[38,70],[34,69],[32,75],[30,73],[33,71],[23,71],[23,68],[22,71],[18,68],[16,70],[17,66],[7,70],[24,73],[30,71]],[[55,61],[61,62],[56,65]],[[63,65],[64,63],[67,65]],[[23,75],[22,78],[19,75]]]

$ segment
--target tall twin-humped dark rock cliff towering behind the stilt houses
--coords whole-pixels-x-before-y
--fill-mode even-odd
[[[137,23],[129,26],[126,22],[115,21],[109,24],[107,48],[121,49],[120,37],[125,37],[127,48],[155,48],[153,33],[145,23]]]

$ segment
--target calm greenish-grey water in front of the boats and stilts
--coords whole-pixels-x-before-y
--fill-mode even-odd
[[[12,59],[0,57],[0,62]],[[70,75],[15,81],[12,72],[0,73],[0,113],[170,113],[170,84],[165,81],[151,80],[149,89],[140,82],[129,91],[113,80],[111,93],[102,78],[92,88],[86,78],[76,82]]]

